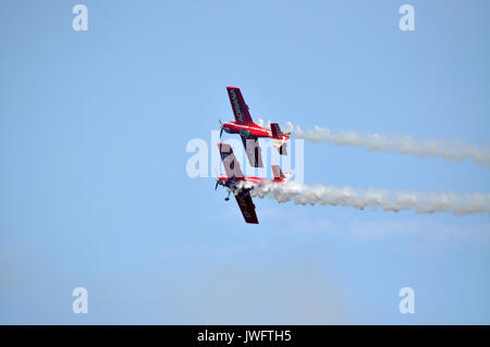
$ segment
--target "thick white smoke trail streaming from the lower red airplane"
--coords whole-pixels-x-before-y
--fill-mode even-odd
[[[252,188],[241,183],[241,188]],[[265,183],[254,187],[252,196],[271,198],[279,202],[294,200],[296,205],[330,205],[353,207],[359,210],[378,208],[399,212],[415,209],[417,213],[451,212],[455,215],[471,213],[490,214],[490,194],[455,194],[453,191],[392,191],[387,189],[356,189],[352,187],[308,186],[295,182]]]

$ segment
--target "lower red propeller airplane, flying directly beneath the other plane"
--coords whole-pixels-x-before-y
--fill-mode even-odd
[[[255,205],[252,201],[250,190],[255,186],[259,186],[267,182],[286,183],[291,177],[291,173],[283,174],[279,165],[272,165],[273,179],[266,179],[262,177],[244,176],[240,169],[240,163],[236,161],[235,154],[229,144],[218,144],[220,150],[221,160],[223,161],[224,171],[226,174],[221,174],[215,186],[215,190],[219,185],[230,189],[225,201],[230,200],[230,195],[233,193],[243,218],[246,223],[258,224],[257,213],[255,212]],[[238,190],[237,184],[240,182],[250,183],[250,187],[242,188]],[[235,194],[236,193],[236,194]]]

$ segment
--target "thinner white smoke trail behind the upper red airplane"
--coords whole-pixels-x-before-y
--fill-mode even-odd
[[[291,123],[286,124],[286,129],[297,138],[314,142],[324,141],[338,146],[367,147],[368,151],[396,151],[400,154],[415,157],[442,157],[457,162],[473,159],[490,169],[490,148],[478,148],[456,139],[451,142],[437,139],[416,140],[411,136],[333,132],[319,126],[315,126],[314,129],[302,129],[299,126],[294,127]]]

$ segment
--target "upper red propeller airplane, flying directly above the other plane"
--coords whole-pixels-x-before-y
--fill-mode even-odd
[[[259,137],[272,138],[273,147],[281,156],[287,154],[286,141],[291,133],[282,133],[278,123],[270,123],[270,129],[254,123],[248,112],[248,106],[242,96],[242,91],[236,87],[226,87],[230,103],[235,115],[235,121],[221,123],[220,138],[223,131],[228,134],[240,134],[243,146],[247,153],[248,162],[254,168],[264,168],[260,156]]]

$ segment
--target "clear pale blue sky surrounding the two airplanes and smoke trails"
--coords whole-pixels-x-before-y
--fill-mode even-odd
[[[88,7],[89,30],[72,29]],[[416,30],[399,29],[415,7]],[[255,119],[488,145],[488,1],[1,1],[0,323],[490,323],[490,220],[256,200],[192,138]],[[230,137],[228,137],[230,138]],[[215,144],[209,151],[215,150]],[[473,162],[305,142],[305,181],[490,191]],[[72,313],[86,287],[89,313]],[[399,290],[415,289],[415,313]]]

